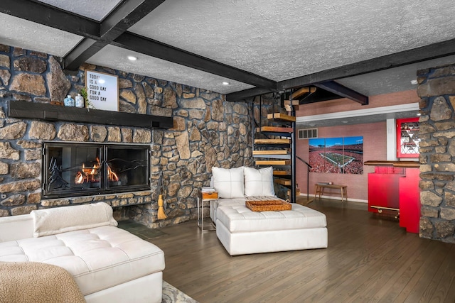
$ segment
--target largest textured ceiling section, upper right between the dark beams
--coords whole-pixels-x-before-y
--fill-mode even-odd
[[[280,81],[449,40],[455,35],[452,6],[167,0],[129,31]]]

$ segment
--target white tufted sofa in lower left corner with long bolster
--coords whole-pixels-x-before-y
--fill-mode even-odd
[[[0,218],[0,262],[64,268],[86,302],[161,302],[164,252],[117,228],[105,203]]]

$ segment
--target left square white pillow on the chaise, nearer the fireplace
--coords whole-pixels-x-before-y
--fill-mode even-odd
[[[243,166],[237,168],[212,167],[213,187],[220,198],[243,198]]]

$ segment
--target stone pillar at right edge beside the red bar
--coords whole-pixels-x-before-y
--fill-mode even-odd
[[[421,238],[455,243],[455,65],[418,72]]]

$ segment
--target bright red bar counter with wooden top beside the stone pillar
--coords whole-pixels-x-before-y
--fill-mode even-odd
[[[368,211],[400,216],[400,226],[419,233],[419,162],[366,161],[374,165],[368,174]]]

